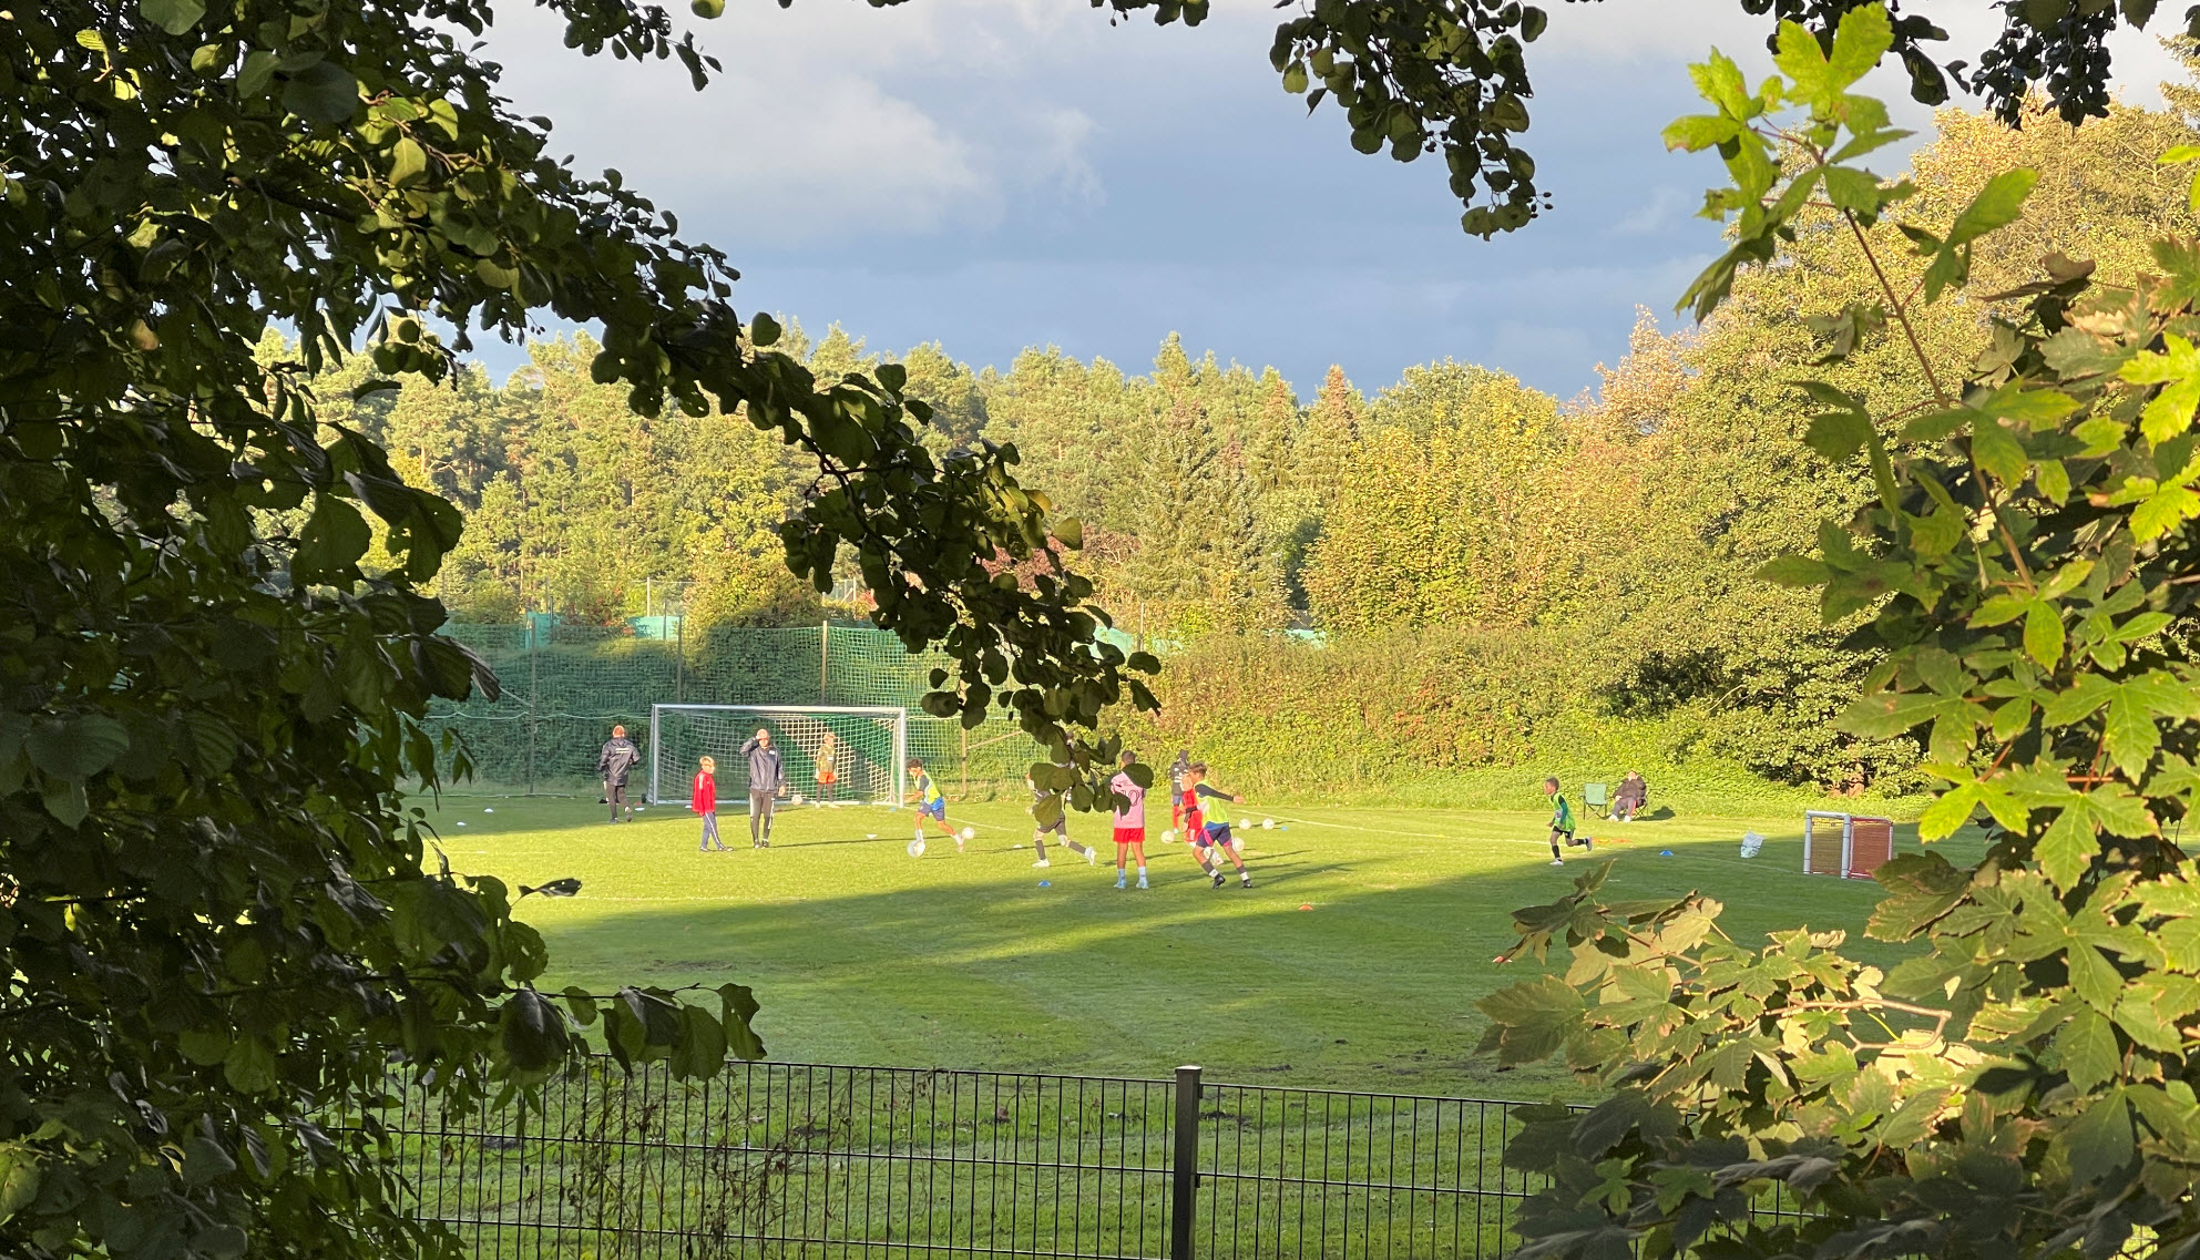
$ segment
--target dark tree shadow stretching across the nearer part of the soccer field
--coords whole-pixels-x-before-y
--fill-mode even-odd
[[[785,849],[825,844],[865,842]],[[1738,941],[1844,928],[1846,952],[1896,963],[1905,948],[1863,939],[1879,886],[1804,875],[1800,849],[1800,831],[1773,836],[1756,860],[1729,840],[1637,831],[1591,860],[1615,862],[1610,899],[1703,891],[1727,906],[1720,924]],[[1916,849],[1914,827],[1899,849]],[[1956,849],[1951,860],[1971,858]],[[1430,880],[1382,851],[1302,844],[1256,851],[1252,888],[1234,877],[1210,888],[1175,849],[1148,855],[1155,888],[1140,893],[1113,888],[1107,858],[1093,873],[1058,864],[1041,888],[1021,869],[977,866],[999,855],[972,851],[917,888],[574,904],[581,913],[543,935],[557,983],[752,985],[781,1062],[1146,1077],[1199,1062],[1219,1080],[1296,1064],[1289,1084],[1584,1093],[1558,1066],[1500,1073],[1470,1051],[1483,1031],[1474,1005],[1540,970],[1492,965],[1514,943],[1511,910],[1569,893],[1591,860],[1558,871],[1522,842],[1487,871]]]

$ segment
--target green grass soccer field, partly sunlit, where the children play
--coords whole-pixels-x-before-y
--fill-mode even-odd
[[[774,1060],[1109,1075],[1197,1062],[1212,1080],[1397,1093],[1577,1088],[1560,1069],[1498,1073],[1472,1053],[1474,1003],[1536,965],[1489,961],[1514,939],[1509,910],[1549,902],[1586,862],[1549,864],[1540,809],[1250,805],[1234,814],[1280,825],[1250,836],[1252,888],[1212,888],[1184,844],[1148,840],[1153,888],[1115,891],[1104,818],[1069,822],[1100,842],[1098,866],[1052,851],[1034,871],[1016,803],[950,805],[977,840],[957,855],[935,831],[924,858],[904,853],[911,814],[880,807],[788,809],[770,851],[724,814],[735,851],[706,855],[682,807],[614,827],[594,794],[420,805],[453,869],[515,886],[581,877],[579,897],[521,904],[550,943],[546,987],[741,981]],[[1756,860],[1738,853],[1745,829],[1769,838]],[[1703,888],[1738,939],[1802,924],[1861,937],[1879,895],[1802,875],[1800,811],[1591,820],[1584,833],[1597,860],[1617,860],[1613,897]],[[1965,862],[1980,838],[1945,844]],[[1896,849],[1914,847],[1901,827]],[[1896,957],[1870,941],[1855,952]]]

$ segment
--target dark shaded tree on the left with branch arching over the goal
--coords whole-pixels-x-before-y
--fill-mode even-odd
[[[587,53],[715,68],[658,9],[548,7]],[[458,508],[321,427],[339,411],[312,378],[361,343],[372,398],[449,378],[477,330],[594,323],[587,374],[640,424],[741,413],[810,455],[823,486],[781,550],[814,585],[854,552],[880,622],[946,646],[933,712],[999,699],[1091,767],[1113,748],[1069,732],[1151,704],[1151,660],[1091,646],[1087,581],[1003,589],[981,563],[1054,554],[1014,453],[933,455],[900,367],[821,383],[777,352],[717,251],[504,108],[469,44],[486,18],[55,0],[0,20],[9,1256],[453,1253],[392,1179],[392,1071],[464,1113],[568,1064],[594,1020],[616,1058],[680,1077],[763,1053],[737,983],[708,1005],[539,992],[513,904],[570,882],[513,891],[436,858],[403,787],[458,750],[420,717],[495,679],[422,594]],[[262,354],[271,325],[295,354]],[[1093,803],[1089,781],[1054,787]]]

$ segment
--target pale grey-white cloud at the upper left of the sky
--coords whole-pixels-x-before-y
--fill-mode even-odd
[[[1025,191],[1102,200],[1082,110],[959,108],[1019,64],[1016,35],[1047,33],[1032,0],[755,4],[700,31],[726,64],[702,92],[673,64],[581,57],[535,9],[506,9],[488,51],[515,108],[554,117],[552,145],[581,169],[616,167],[748,246],[986,229]],[[961,86],[920,99],[895,86],[911,75]]]

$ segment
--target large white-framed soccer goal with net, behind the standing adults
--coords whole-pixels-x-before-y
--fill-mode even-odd
[[[840,805],[900,805],[906,796],[909,710],[829,704],[651,704],[649,803],[686,805],[695,763],[717,761],[724,809],[748,807],[741,745],[772,732],[788,792]],[[827,756],[829,737],[829,756]]]

